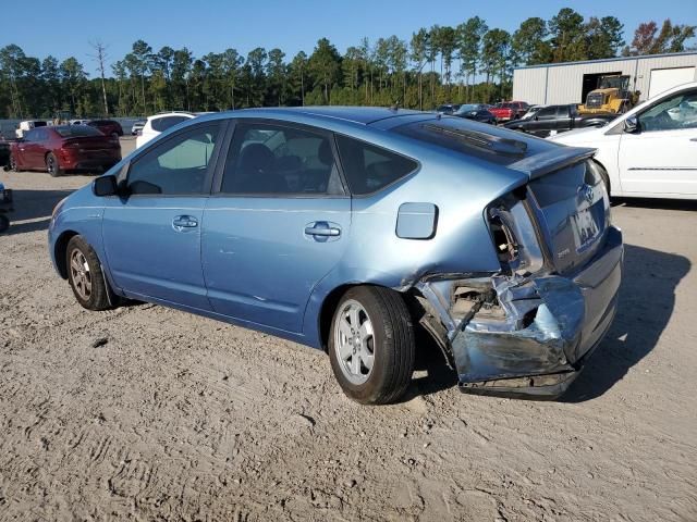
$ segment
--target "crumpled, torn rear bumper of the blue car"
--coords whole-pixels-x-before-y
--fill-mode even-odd
[[[432,314],[440,315],[462,391],[553,399],[567,389],[616,310],[622,233],[607,232],[603,248],[580,272],[524,281],[493,276],[488,284],[496,304],[472,301],[462,316],[453,296],[469,282],[420,285]]]

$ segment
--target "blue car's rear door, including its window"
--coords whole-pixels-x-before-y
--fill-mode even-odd
[[[351,198],[332,136],[281,122],[237,123],[218,185],[203,237],[215,311],[302,332],[313,288],[348,240]]]

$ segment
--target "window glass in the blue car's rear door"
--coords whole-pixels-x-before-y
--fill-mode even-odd
[[[343,188],[328,135],[285,125],[239,123],[220,191],[341,195]]]

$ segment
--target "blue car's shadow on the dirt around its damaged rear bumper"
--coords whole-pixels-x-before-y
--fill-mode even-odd
[[[624,274],[615,319],[604,340],[586,368],[559,400],[583,402],[601,396],[621,381],[632,366],[657,345],[675,307],[675,288],[690,270],[687,258],[625,245]],[[414,380],[406,400],[457,385],[439,348],[419,333],[416,370],[425,376]]]

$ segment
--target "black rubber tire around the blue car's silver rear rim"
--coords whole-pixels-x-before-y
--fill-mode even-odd
[[[337,345],[339,321],[348,301],[359,303],[372,324],[372,368],[367,381],[360,384],[351,382],[344,374],[342,365],[348,363],[340,360]],[[415,351],[409,311],[398,291],[357,286],[342,296],[331,323],[329,359],[339,385],[351,399],[363,405],[384,405],[400,399],[412,382]]]

